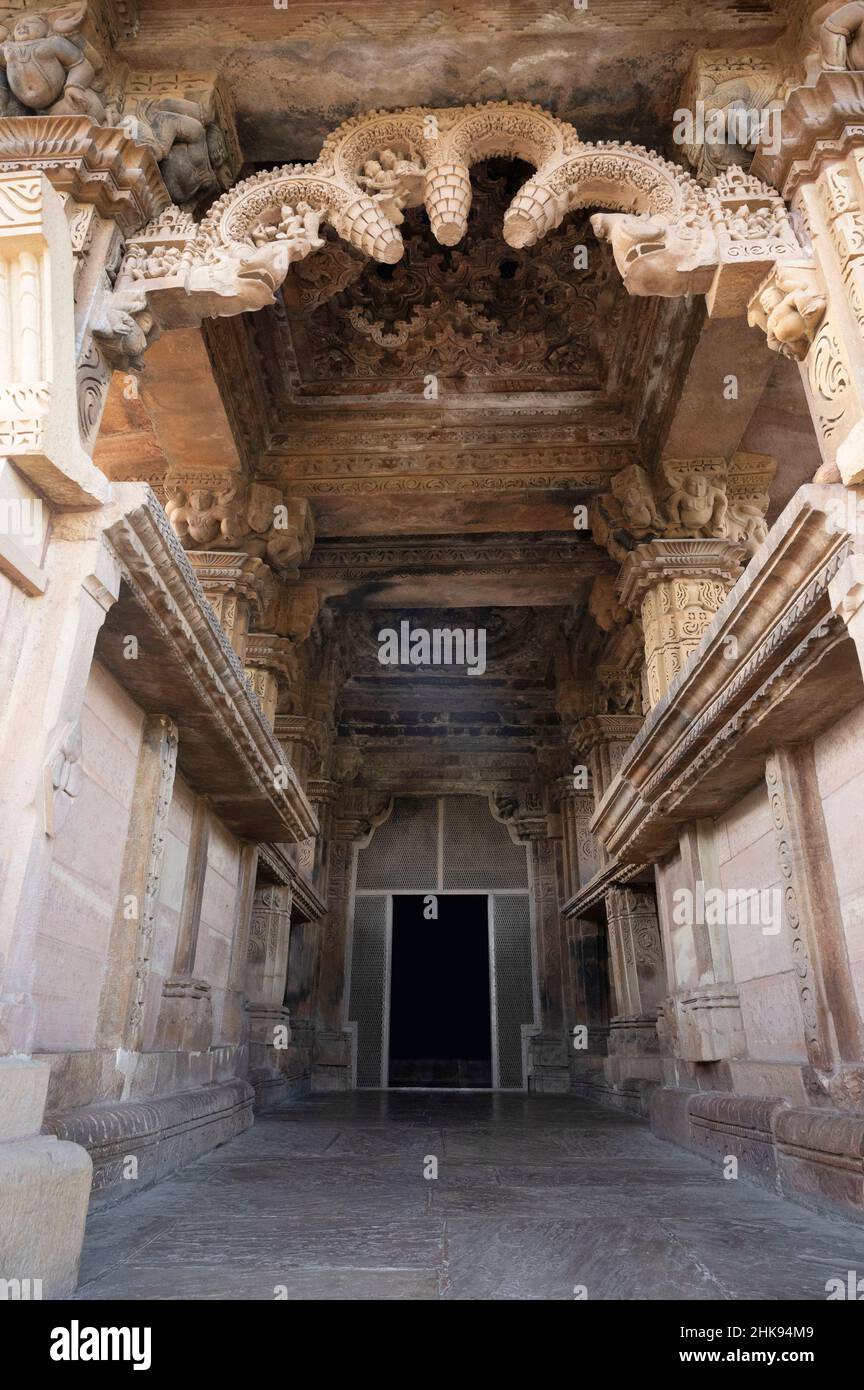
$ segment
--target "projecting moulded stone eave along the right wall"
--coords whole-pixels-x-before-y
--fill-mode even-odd
[[[622,863],[674,851],[683,824],[722,815],[764,778],[772,748],[818,737],[860,703],[858,657],[828,589],[860,549],[846,517],[839,484],[800,488],[647,714],[592,819]]]

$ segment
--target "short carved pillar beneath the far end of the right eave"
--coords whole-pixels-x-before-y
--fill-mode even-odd
[[[665,970],[653,892],[615,887],[606,895],[614,1009],[610,1022],[607,1079],[660,1076],[657,1011],[665,994]]]

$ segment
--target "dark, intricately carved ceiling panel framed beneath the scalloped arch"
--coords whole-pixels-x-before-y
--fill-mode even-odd
[[[460,398],[542,391],[582,392],[579,404],[603,400],[622,325],[638,318],[628,313],[635,302],[608,247],[593,242],[586,213],[539,249],[504,245],[504,210],[529,172],[518,163],[475,170],[461,245],[439,246],[425,213],[410,210],[396,265],[369,263],[328,303],[289,317],[293,379],[282,427],[299,421],[307,403],[338,404],[358,392],[403,392],[421,414],[426,402],[417,384],[428,373]],[[576,270],[574,246],[588,240],[590,264]],[[304,267],[300,282],[317,271],[314,259]],[[632,348],[631,338],[628,356]]]

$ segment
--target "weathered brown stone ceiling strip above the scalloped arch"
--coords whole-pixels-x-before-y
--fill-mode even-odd
[[[538,101],[585,139],[658,147],[697,49],[760,49],[785,0],[142,0],[139,68],[222,68],[250,161],[315,158],[374,107]],[[660,142],[664,143],[664,142]]]

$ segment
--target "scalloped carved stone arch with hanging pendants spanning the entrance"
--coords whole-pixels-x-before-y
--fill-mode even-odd
[[[290,265],[326,245],[322,224],[393,264],[403,210],[425,204],[436,239],[453,246],[468,222],[471,165],[492,156],[535,168],[504,214],[510,246],[535,245],[575,208],[604,208],[595,232],[635,295],[704,293],[711,313],[743,313],[778,261],[804,254],[783,200],[742,170],[701,188],[642,146],[586,143],[540,107],[490,101],[353,117],[314,164],[254,174],[199,225],[169,208],[131,239],[119,286],[143,281],[157,322],[172,327],[272,303]]]

